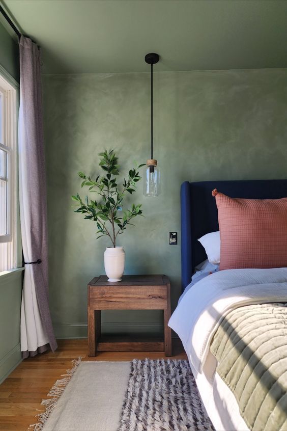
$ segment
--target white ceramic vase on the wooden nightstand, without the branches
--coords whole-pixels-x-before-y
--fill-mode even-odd
[[[107,247],[104,252],[105,272],[108,281],[121,281],[125,271],[126,253],[123,247]]]

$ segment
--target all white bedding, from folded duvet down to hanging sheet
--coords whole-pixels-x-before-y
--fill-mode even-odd
[[[215,358],[210,359],[216,329],[229,311],[242,305],[286,301],[287,268],[225,270],[193,285],[171,316],[168,325],[182,340],[207,412],[215,426],[221,421],[217,429],[248,428],[238,408],[236,412],[233,393],[216,373]],[[231,427],[232,413],[240,428]]]

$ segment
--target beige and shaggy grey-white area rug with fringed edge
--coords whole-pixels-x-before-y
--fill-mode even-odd
[[[55,383],[35,431],[212,431],[184,360],[80,362]]]

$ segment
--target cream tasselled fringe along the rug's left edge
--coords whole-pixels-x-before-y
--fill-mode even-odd
[[[52,398],[43,399],[41,402],[41,405],[45,406],[45,411],[40,413],[39,415],[35,416],[36,418],[37,417],[39,418],[39,422],[30,425],[28,430],[30,430],[30,431],[41,431],[41,429],[45,425],[48,417],[50,416],[51,412],[55,408],[56,403],[58,402],[60,396],[64,392],[64,389],[66,388],[66,386],[68,385],[68,383],[72,379],[76,369],[80,365],[81,359],[82,359],[81,357],[79,357],[78,359],[74,359],[72,361],[73,368],[68,369],[67,374],[61,374],[63,379],[57,380],[54,383],[50,392],[47,394],[47,396],[50,396]]]

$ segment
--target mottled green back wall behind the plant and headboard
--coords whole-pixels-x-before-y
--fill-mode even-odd
[[[77,171],[98,172],[97,153],[114,148],[125,172],[150,157],[148,73],[45,75],[50,307],[57,336],[87,334],[87,283],[104,273],[106,238],[71,208]],[[287,69],[159,72],[154,79],[158,198],[134,196],[144,219],[121,236],[126,274],[164,273],[175,307],[181,258],[180,184],[185,180],[286,178]],[[129,199],[131,202],[132,199]],[[158,331],[159,312],[104,313],[106,331]]]

